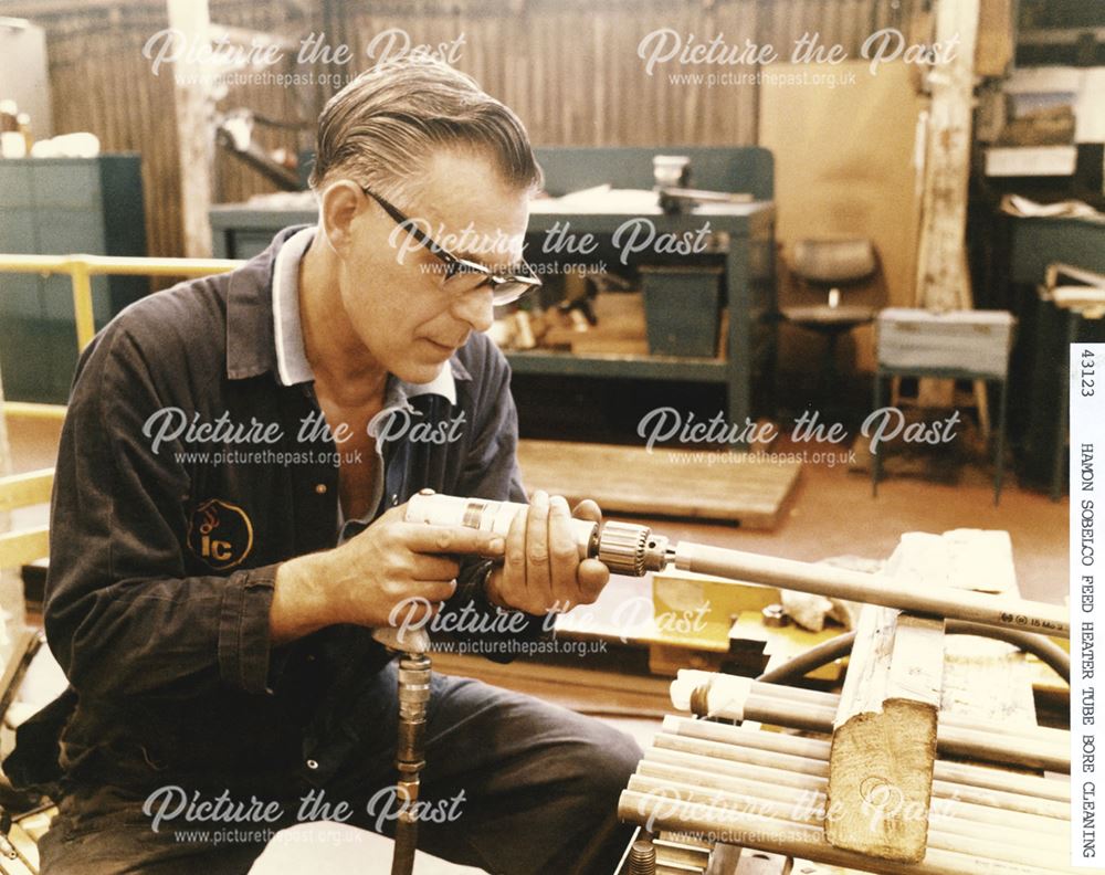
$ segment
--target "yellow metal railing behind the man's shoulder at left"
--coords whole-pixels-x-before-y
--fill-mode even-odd
[[[92,313],[92,277],[106,274],[139,276],[207,276],[240,267],[232,259],[139,259],[113,255],[3,255],[0,273],[67,274],[73,286],[73,312],[76,317],[77,350],[96,335]],[[59,404],[4,403],[4,413],[34,419],[61,419],[65,408]]]

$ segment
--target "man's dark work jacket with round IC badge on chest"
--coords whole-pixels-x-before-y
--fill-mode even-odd
[[[297,231],[233,273],[128,307],[81,357],[45,603],[71,684],[53,708],[70,781],[250,792],[292,774],[325,781],[358,731],[344,690],[389,660],[358,626],[270,641],[278,563],[334,547],[341,523],[340,445],[317,428],[294,296],[274,328],[274,272]],[[282,260],[284,278],[297,261]],[[275,299],[286,304],[286,287]],[[445,368],[427,387],[389,378],[373,517],[424,487],[525,500],[504,357],[473,334]],[[464,566],[454,603],[491,614],[487,568]]]

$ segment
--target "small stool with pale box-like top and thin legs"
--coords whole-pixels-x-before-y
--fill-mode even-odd
[[[1001,499],[1006,450],[1006,388],[1015,319],[1004,310],[950,310],[892,307],[876,321],[874,410],[882,407],[886,377],[935,377],[997,382],[993,503]],[[871,494],[878,494],[882,457],[871,454]]]

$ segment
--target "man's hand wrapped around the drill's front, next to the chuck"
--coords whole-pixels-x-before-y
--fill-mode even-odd
[[[559,495],[536,492],[526,513],[519,513],[506,538],[506,556],[487,579],[487,598],[502,608],[538,616],[564,613],[591,604],[610,580],[598,559],[579,559],[571,536],[571,517],[601,521],[594,502],[580,502],[575,512]]]

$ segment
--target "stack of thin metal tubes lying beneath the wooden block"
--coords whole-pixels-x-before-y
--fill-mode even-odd
[[[1065,780],[937,760],[922,863],[869,857],[823,835],[830,742],[670,716],[619,802],[649,830],[884,875],[1023,875],[1064,865]],[[872,816],[878,816],[877,811]]]

